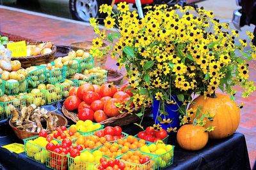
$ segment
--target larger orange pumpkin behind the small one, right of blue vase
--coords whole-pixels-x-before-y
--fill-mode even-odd
[[[189,108],[197,110],[198,107],[204,115],[211,115],[210,117],[213,118],[212,121],[205,118],[205,127],[215,126],[214,131],[209,132],[209,138],[226,138],[236,132],[240,121],[240,110],[230,97],[224,94],[216,94],[216,98],[208,97],[207,99],[204,99],[204,96],[198,96]],[[190,122],[193,122],[195,116],[194,113]]]

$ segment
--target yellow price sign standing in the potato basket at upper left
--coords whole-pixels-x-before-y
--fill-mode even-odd
[[[16,43],[8,43],[7,48],[12,52],[12,57],[27,56],[27,48],[25,41],[19,41]]]

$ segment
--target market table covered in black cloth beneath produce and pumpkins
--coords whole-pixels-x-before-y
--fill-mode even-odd
[[[48,110],[55,110],[54,106],[46,106]],[[61,112],[59,111],[61,114]],[[153,124],[151,117],[146,117],[143,125]],[[8,119],[0,121],[0,146],[10,143],[23,143],[13,133],[8,124]],[[136,125],[127,125],[123,131],[134,135],[140,131]],[[175,134],[172,134],[168,143],[175,145],[173,164],[166,169],[250,169],[250,160],[244,135],[236,132],[232,136],[210,140],[204,149],[196,152],[182,150],[177,144]],[[44,164],[39,164],[27,159],[25,153],[12,153],[0,147],[0,169],[48,169]]]

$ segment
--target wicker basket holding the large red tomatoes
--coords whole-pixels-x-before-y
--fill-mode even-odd
[[[149,113],[150,111],[147,111],[147,110],[150,110],[150,106],[147,106],[145,108],[145,113]],[[108,118],[107,120],[104,120],[102,122],[99,122],[100,124],[104,125],[104,126],[124,126],[124,125],[129,125],[131,123],[134,123],[134,122],[137,122],[138,120],[140,120],[139,117],[136,116],[135,113],[139,113],[140,112],[140,109],[138,110],[135,110],[135,108],[132,110],[132,114],[131,113],[128,113],[128,112],[125,112],[125,113],[122,113],[120,115],[118,115],[117,117],[111,117],[111,118]],[[72,111],[68,111],[65,106],[62,106],[62,113],[63,115],[65,115],[65,117],[69,118],[70,120],[72,120],[73,122],[77,122],[79,120],[78,116],[77,116],[77,113],[75,112],[72,112]]]

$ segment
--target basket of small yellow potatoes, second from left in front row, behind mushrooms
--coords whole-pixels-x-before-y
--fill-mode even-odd
[[[43,92],[37,92],[35,94],[31,94],[31,90],[33,89],[28,89],[26,92],[27,94],[25,95],[26,97],[26,105],[29,106],[31,104],[35,104],[36,106],[44,106],[45,105],[45,94]]]

